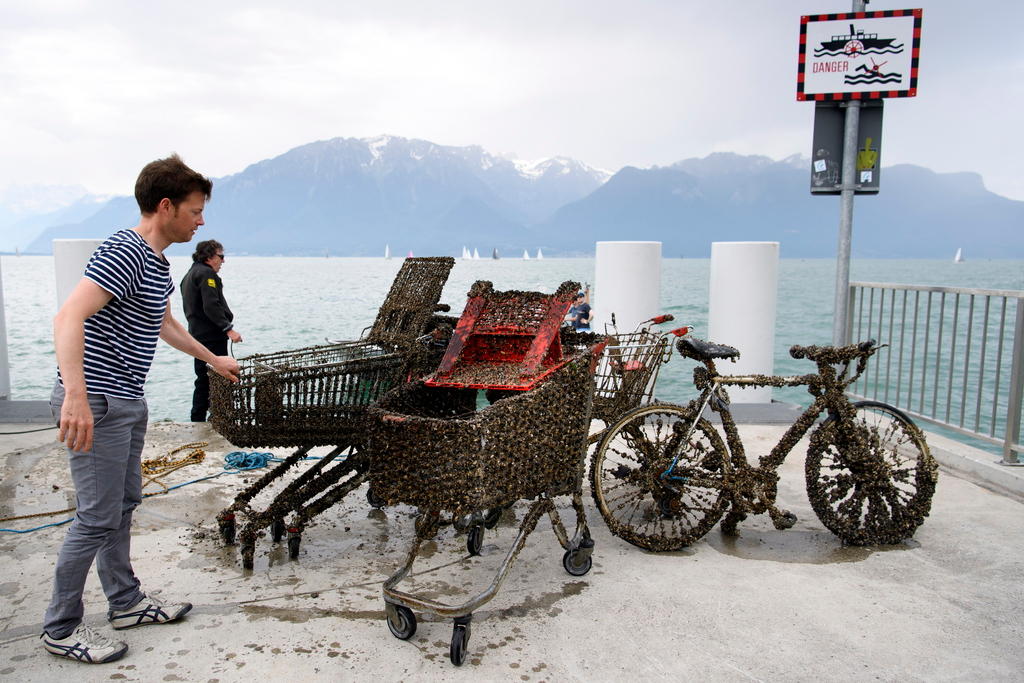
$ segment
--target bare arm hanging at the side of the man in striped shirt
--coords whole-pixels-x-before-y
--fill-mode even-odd
[[[112,298],[110,292],[83,278],[53,317],[53,348],[65,387],[57,440],[72,451],[92,449],[92,409],[85,388],[85,321]]]

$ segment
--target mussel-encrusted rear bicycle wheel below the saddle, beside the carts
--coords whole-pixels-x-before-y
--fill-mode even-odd
[[[608,427],[591,457],[594,502],[624,541],[647,550],[679,550],[711,530],[725,510],[726,453],[711,423],[689,410],[634,409]]]

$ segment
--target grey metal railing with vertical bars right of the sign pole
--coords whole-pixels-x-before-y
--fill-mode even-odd
[[[858,398],[1001,445],[1021,464],[1024,292],[850,283],[850,341],[888,346],[850,387]]]

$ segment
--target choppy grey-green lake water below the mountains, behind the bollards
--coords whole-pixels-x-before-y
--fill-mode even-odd
[[[180,282],[188,257],[172,257],[171,271]],[[401,259],[234,257],[228,250],[221,269],[227,301],[234,311],[236,329],[245,343],[236,345],[239,357],[324,343],[326,339],[357,339],[369,327]],[[51,318],[56,308],[53,259],[48,256],[2,256],[6,302],[7,343],[11,393],[14,399],[44,399],[53,384],[55,362]],[[665,259],[662,265],[663,312],[679,325],[695,328],[703,337],[708,328],[709,259]],[[929,260],[854,260],[853,281],[944,285],[998,290],[1024,290],[1024,261],[988,260],[952,263]],[[775,332],[775,372],[801,374],[813,370],[806,360],[788,355],[793,344],[831,341],[835,296],[835,259],[781,259],[778,268]],[[594,282],[594,260],[458,260],[441,301],[458,314],[466,292],[477,280],[489,280],[499,290],[553,292],[565,280]],[[181,297],[173,296],[174,313],[184,322]],[[600,293],[594,292],[594,307]],[[716,340],[729,343],[729,340]],[[742,350],[742,349],[740,349]],[[690,381],[692,362],[676,355],[663,370],[657,396],[684,402],[695,394]],[[195,375],[191,358],[160,344],[146,384],[151,419],[185,421],[191,403]],[[806,404],[801,388],[776,389],[773,396]]]

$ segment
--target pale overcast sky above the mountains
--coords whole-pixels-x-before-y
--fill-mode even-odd
[[[0,189],[128,195],[171,152],[222,176],[379,134],[609,171],[712,152],[810,156],[800,16],[850,7],[0,0]],[[883,166],[974,171],[1024,200],[1024,3],[868,5],[911,7],[924,8],[919,96],[886,102]]]

